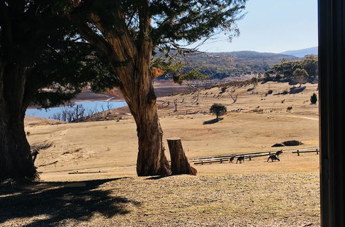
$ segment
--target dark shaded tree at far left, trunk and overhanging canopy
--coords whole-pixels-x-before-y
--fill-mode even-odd
[[[55,1],[0,1],[0,179],[36,177],[23,123],[30,103],[59,105],[106,75],[61,10]]]

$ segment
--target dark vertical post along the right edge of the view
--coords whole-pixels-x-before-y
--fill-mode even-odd
[[[345,1],[319,0],[319,114],[322,226],[345,226]]]

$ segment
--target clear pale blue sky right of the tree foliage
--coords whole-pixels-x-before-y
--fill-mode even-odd
[[[246,12],[237,23],[241,34],[232,43],[219,34],[199,50],[279,53],[317,46],[317,0],[248,0]]]

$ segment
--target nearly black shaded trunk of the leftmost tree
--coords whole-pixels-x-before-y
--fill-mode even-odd
[[[34,179],[36,169],[24,131],[26,69],[0,66],[0,179]]]

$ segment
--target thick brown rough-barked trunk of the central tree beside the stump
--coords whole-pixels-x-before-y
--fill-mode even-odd
[[[128,107],[137,124],[138,157],[137,175],[170,175],[170,165],[164,154],[163,131],[157,114],[155,91],[150,79],[149,67],[140,67],[138,78],[123,91]]]

